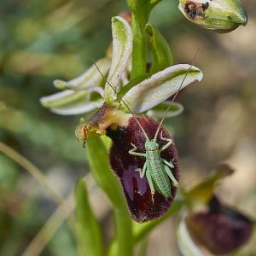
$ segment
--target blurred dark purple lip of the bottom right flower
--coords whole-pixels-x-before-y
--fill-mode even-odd
[[[231,253],[245,244],[253,231],[253,221],[241,212],[222,205],[212,197],[207,212],[186,218],[189,233],[215,255]]]

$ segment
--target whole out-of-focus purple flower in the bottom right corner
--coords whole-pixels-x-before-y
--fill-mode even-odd
[[[177,229],[178,245],[184,256],[203,256],[206,250],[214,255],[231,253],[252,235],[253,221],[222,204],[213,194],[214,184],[232,172],[229,166],[220,165],[206,181],[186,192],[188,199],[189,195],[192,197],[189,211],[183,212]],[[197,209],[206,208],[206,203],[207,210]]]

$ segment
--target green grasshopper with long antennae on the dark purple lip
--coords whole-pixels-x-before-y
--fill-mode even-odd
[[[96,65],[96,63],[95,63]],[[189,67],[189,69],[192,67]],[[98,69],[98,67],[97,67]],[[188,73],[189,73],[188,69]],[[98,69],[98,71],[101,73],[101,71]],[[157,137],[160,131],[160,127],[163,124],[164,119],[166,118],[166,114],[168,113],[169,109],[172,106],[172,103],[174,102],[175,98],[177,97],[177,94],[179,90],[182,88],[183,82],[186,79],[188,73],[183,78],[182,83],[180,84],[179,89],[177,90],[175,96],[172,98],[172,102],[166,109],[166,113],[164,117],[160,121],[160,125],[157,128],[157,131],[155,132],[154,138],[149,139],[146,131],[144,131],[143,126],[138,121],[135,113],[132,113],[131,109],[127,106],[127,104],[121,99],[121,101],[125,104],[126,108],[131,112],[135,120],[137,121],[137,124],[139,125],[140,129],[143,131],[144,137],[146,138],[145,141],[145,153],[137,152],[137,146],[131,143],[131,150],[129,150],[129,154],[144,157],[145,163],[142,168],[137,168],[135,171],[139,172],[140,177],[143,178],[146,175],[149,188],[152,195],[152,201],[154,202],[154,193],[155,189],[160,193],[160,195],[163,195],[166,199],[172,197],[172,185],[177,187],[178,182],[177,179],[172,174],[172,169],[174,168],[172,161],[168,162],[167,160],[161,158],[160,153],[166,150],[166,148],[169,148],[173,141],[172,138],[166,138],[163,137],[162,131],[160,132],[160,140],[166,141],[166,145],[164,145],[162,148],[160,148],[159,143],[157,143]],[[103,75],[102,75],[103,76]],[[104,77],[104,76],[103,76]],[[108,83],[108,80],[106,79],[106,82]],[[116,90],[113,88],[113,86],[108,83],[110,87],[116,92]],[[171,179],[171,182],[170,182]]]

